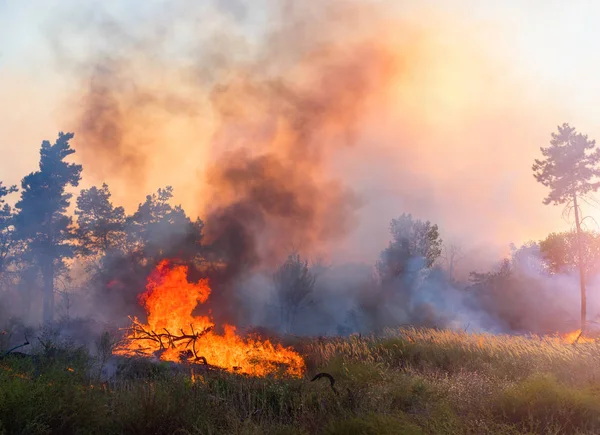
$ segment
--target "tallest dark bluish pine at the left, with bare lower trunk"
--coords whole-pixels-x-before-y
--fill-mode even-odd
[[[54,144],[42,143],[40,170],[23,178],[21,199],[15,205],[17,236],[42,274],[44,322],[54,318],[56,273],[64,267],[64,259],[74,255],[72,219],[66,214],[72,194],[65,189],[79,184],[82,167],[65,162],[75,152],[69,144],[73,136],[60,132]]]

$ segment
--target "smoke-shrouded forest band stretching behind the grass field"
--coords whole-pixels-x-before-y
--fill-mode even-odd
[[[583,137],[566,124],[553,136],[571,147]],[[257,248],[261,234],[252,231],[254,217],[244,221],[235,207],[206,217],[213,228],[207,240],[204,220],[173,204],[170,186],[148,194],[131,215],[113,204],[107,184],[77,191],[83,168],[69,163],[72,138],[60,133],[53,143],[44,141],[38,170],[20,186],[0,184],[4,322],[93,319],[107,328],[123,326],[129,315],[143,314],[138,295],[150,272],[173,260],[187,265],[191,278],[209,280],[214,291],[205,308],[219,323],[244,328],[295,335],[401,325],[512,334],[577,329],[575,229],[512,246],[495,268],[465,278],[455,272],[469,260],[461,247],[444,244],[437,223],[407,210],[391,221],[389,245],[373,264],[327,264],[301,252],[284,252],[267,264]],[[588,201],[587,193],[581,201]],[[269,213],[262,204],[256,208]],[[594,286],[599,233],[582,231],[581,247],[584,276]],[[588,305],[593,322],[600,314],[593,295]]]

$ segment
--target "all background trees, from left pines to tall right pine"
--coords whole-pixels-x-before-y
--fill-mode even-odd
[[[112,301],[104,305],[125,317],[132,313],[118,313],[119,307],[129,310],[136,305],[147,274],[160,260],[177,258],[197,273],[209,273],[211,264],[223,260],[204,243],[202,220],[192,219],[181,206],[172,205],[170,186],[147,195],[132,214],[112,203],[106,184],[82,189],[73,204],[74,212],[69,213],[70,191],[78,187],[82,172],[81,165],[67,161],[75,152],[72,138],[73,133],[61,132],[54,143],[44,141],[38,170],[26,175],[19,187],[0,181],[0,290],[17,295],[22,310],[31,310],[41,299],[42,321],[51,322],[56,296],[63,293],[61,284],[68,287],[75,262],[84,265],[85,288]],[[350,284],[360,289],[354,292],[356,302],[349,311],[358,310],[363,317],[370,313],[371,326],[385,326],[382,319],[390,316],[382,307],[393,301],[390,306],[402,308],[404,314],[396,311],[389,324],[439,322],[428,317],[426,304],[416,302],[418,289],[435,282],[438,290],[460,288],[469,295],[469,303],[494,313],[511,329],[544,329],[548,322],[543,319],[552,317],[547,316],[552,309],[560,311],[560,304],[540,313],[535,321],[531,320],[535,315],[519,312],[531,305],[522,299],[540,286],[523,273],[527,254],[540,260],[535,267],[545,276],[578,274],[585,328],[585,282],[599,270],[600,235],[583,229],[580,202],[591,201],[591,194],[600,187],[600,150],[568,124],[560,126],[550,146],[541,150],[544,159],[535,161],[533,171],[535,178],[550,188],[544,203],[565,205],[567,214],[574,215],[572,231],[528,243],[515,249],[497,269],[472,272],[468,282],[457,282],[454,270],[464,257],[460,248],[444,244],[437,224],[403,214],[390,223],[391,241],[375,264],[375,274],[365,272]],[[11,194],[19,195],[14,206],[7,202]],[[324,304],[323,294],[328,290],[323,281],[332,275],[331,269],[322,263],[311,264],[294,252],[273,272],[278,324],[283,330],[293,332],[303,312],[312,310],[314,314],[319,309],[315,306]],[[415,313],[419,315],[415,317]]]

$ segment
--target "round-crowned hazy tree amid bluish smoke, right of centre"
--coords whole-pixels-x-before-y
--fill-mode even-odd
[[[392,241],[376,265],[382,281],[403,275],[409,270],[410,261],[421,261],[423,267],[430,268],[442,253],[438,226],[413,219],[410,214],[392,219],[390,234]]]

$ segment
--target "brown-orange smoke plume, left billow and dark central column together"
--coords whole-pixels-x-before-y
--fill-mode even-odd
[[[184,25],[201,14],[188,7],[180,10],[187,17],[177,17]],[[328,162],[354,144],[365,113],[398,73],[392,47],[360,30],[359,14],[377,15],[366,6],[269,7],[277,24],[267,35],[247,36],[258,44],[250,56],[235,54],[250,42],[230,41],[219,45],[225,60],[189,54],[187,67],[156,65],[165,54],[163,20],[155,18],[141,36],[101,21],[109,46],[80,69],[73,128],[78,152],[94,162],[91,175],[137,188],[168,164],[152,161],[164,150],[181,161],[209,157],[196,179],[197,207],[231,276],[273,266],[291,249],[313,253],[355,224],[360,199],[328,175]],[[353,36],[341,30],[351,24]],[[174,118],[203,116],[210,130],[180,152],[179,138],[164,129]]]

